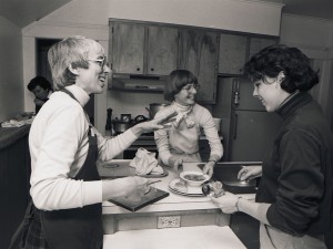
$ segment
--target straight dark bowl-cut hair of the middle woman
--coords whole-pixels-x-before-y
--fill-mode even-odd
[[[164,87],[164,100],[172,102],[174,95],[188,84],[198,84],[196,76],[188,70],[174,70],[169,74]]]

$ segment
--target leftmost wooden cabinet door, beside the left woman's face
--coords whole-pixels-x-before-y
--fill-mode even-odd
[[[113,73],[143,74],[144,25],[112,23]]]

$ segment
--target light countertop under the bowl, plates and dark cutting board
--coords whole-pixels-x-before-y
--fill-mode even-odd
[[[184,170],[198,170],[201,169],[196,166],[195,163],[185,163],[183,165]],[[165,191],[170,193],[170,196],[168,196],[164,199],[161,199],[152,205],[149,205],[142,209],[140,209],[140,212],[158,212],[158,211],[172,211],[172,210],[200,210],[200,209],[216,209],[218,207],[213,205],[210,200],[210,198],[203,196],[203,197],[189,197],[189,196],[182,196],[174,194],[169,189],[169,183],[174,179],[179,178],[178,174],[175,174],[172,170],[169,170],[169,175],[165,177],[161,177],[162,181],[153,184],[152,186]],[[254,199],[254,194],[244,194],[241,195],[242,197],[246,199]],[[110,201],[103,201],[103,214],[129,214],[131,211],[119,207]]]

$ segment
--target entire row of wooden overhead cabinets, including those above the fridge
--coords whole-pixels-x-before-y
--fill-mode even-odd
[[[121,89],[119,79],[149,82],[150,79],[163,80],[175,69],[185,69],[204,86],[198,93],[198,101],[203,103],[215,102],[218,73],[241,74],[249,53],[276,41],[275,38],[254,40],[212,29],[119,19],[110,19],[109,25],[111,89]]]

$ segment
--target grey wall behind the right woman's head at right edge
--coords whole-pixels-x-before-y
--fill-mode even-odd
[[[333,125],[333,20],[283,14],[281,43],[301,49],[320,69],[320,84],[313,91]]]

